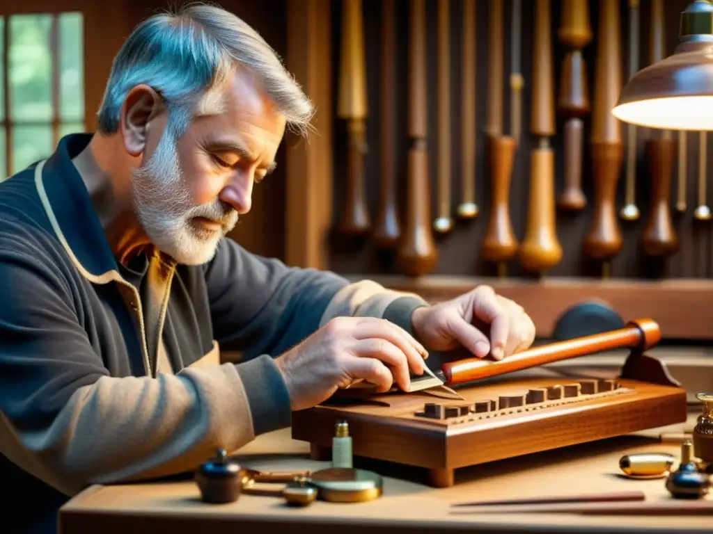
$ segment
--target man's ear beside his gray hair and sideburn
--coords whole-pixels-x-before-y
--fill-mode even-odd
[[[146,148],[150,123],[163,110],[163,99],[148,85],[137,85],[121,108],[121,135],[126,152],[136,157]]]

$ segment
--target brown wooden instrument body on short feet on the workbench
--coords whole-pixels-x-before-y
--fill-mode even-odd
[[[619,385],[612,389],[615,384]],[[563,394],[566,389],[573,397],[550,400],[546,393],[528,394],[555,386],[563,386]],[[316,459],[329,459],[334,424],[346,420],[355,456],[425,468],[431,486],[446,487],[453,485],[457,468],[687,419],[684,389],[662,362],[638,351],[631,353],[621,376],[611,381],[511,374],[458,393],[466,400],[441,399],[428,392],[335,397],[295,412],[292,437],[309,441]],[[428,403],[444,407],[443,419],[424,416]],[[468,412],[463,413],[466,406]],[[477,411],[486,406],[487,412]],[[446,408],[454,417],[445,417]]]

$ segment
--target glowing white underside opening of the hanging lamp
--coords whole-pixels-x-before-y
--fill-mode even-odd
[[[618,105],[617,119],[661,130],[713,130],[713,95],[652,98]]]

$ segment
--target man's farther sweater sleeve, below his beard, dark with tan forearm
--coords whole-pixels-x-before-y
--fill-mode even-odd
[[[221,241],[205,278],[215,337],[244,359],[277,356],[338,316],[385,318],[411,332],[411,314],[427,305],[373,281],[286,266],[232,239]]]

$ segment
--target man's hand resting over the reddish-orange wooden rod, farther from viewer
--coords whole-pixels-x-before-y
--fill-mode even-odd
[[[429,350],[462,345],[478,357],[490,354],[496,360],[525,350],[535,340],[535,325],[522,306],[496,295],[490,286],[478,286],[431,308],[417,308],[411,324]]]

